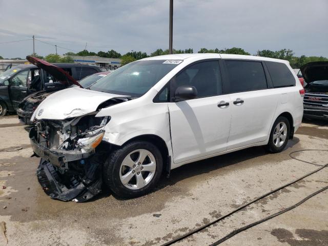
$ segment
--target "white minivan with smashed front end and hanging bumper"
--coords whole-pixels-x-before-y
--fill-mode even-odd
[[[285,60],[176,54],[134,61],[86,89],[47,97],[31,120],[45,192],[86,201],[151,191],[186,163],[252,147],[282,151],[301,124],[304,89]],[[199,167],[201,169],[201,167]]]

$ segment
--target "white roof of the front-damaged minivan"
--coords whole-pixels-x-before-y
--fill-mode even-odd
[[[172,55],[159,55],[153,57],[147,57],[142,60],[185,60],[192,57],[199,57],[201,59],[206,58],[226,58],[226,59],[248,59],[248,60],[268,60],[276,61],[278,63],[289,63],[287,60],[254,56],[254,55],[235,55],[235,54],[217,54],[217,53],[194,53],[194,54],[172,54]]]

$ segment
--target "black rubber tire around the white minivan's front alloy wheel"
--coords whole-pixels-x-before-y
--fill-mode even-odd
[[[133,190],[127,188],[120,179],[121,163],[131,152],[139,149],[144,149],[151,152],[151,154],[156,160],[156,170],[154,172],[153,177],[150,179],[150,181],[147,183],[146,186],[140,189],[135,188]],[[111,155],[107,158],[104,165],[104,172],[103,172],[104,181],[105,184],[111,189],[111,191],[117,196],[124,197],[124,198],[134,198],[134,197],[145,195],[154,188],[154,186],[156,185],[157,181],[160,178],[162,168],[163,168],[163,158],[160,151],[155,145],[147,141],[133,141],[128,143],[127,145],[122,146],[117,150],[114,150],[111,153]],[[129,170],[131,171],[132,169]],[[140,174],[142,176],[144,176],[143,174],[147,176],[148,172],[140,172]],[[134,178],[136,177],[137,176],[135,176]]]

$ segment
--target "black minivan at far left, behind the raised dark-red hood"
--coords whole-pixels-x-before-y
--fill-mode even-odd
[[[93,65],[64,63],[53,65],[67,72],[74,80],[101,72],[99,67]],[[7,112],[15,112],[23,99],[32,93],[61,90],[68,86],[43,68],[33,64],[12,67],[0,74],[0,116],[6,115]]]

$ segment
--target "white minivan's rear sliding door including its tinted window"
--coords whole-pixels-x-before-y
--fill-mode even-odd
[[[267,139],[278,98],[269,89],[261,61],[225,60],[231,98],[228,150]]]

